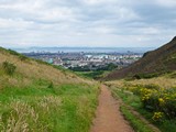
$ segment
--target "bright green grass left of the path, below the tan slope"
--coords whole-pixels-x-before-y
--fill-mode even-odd
[[[65,84],[48,88],[46,84],[1,89],[0,131],[89,131],[98,86]]]

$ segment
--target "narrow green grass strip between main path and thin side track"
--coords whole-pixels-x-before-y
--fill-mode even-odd
[[[127,109],[127,107],[121,106],[120,110],[122,111],[122,113],[124,114],[125,119],[130,122],[130,124],[133,127],[133,129],[136,132],[153,132],[153,130],[151,128],[148,128],[147,124],[145,124],[139,118],[133,116],[131,113],[131,111],[129,109]]]

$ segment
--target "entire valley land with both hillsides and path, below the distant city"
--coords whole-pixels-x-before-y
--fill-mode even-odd
[[[0,131],[175,132],[175,45],[173,38],[106,73],[74,72],[1,47]]]

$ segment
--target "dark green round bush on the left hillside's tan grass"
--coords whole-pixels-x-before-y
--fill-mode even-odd
[[[4,72],[10,76],[12,76],[16,69],[16,66],[14,64],[11,64],[7,61],[2,63],[2,67]]]

